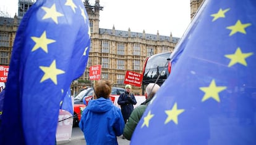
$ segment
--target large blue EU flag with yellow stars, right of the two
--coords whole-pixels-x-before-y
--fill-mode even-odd
[[[256,1],[206,0],[130,144],[256,144]]]

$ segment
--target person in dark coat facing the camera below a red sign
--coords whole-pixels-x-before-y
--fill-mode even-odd
[[[117,101],[117,103],[121,106],[122,117],[124,117],[124,123],[127,122],[127,120],[130,117],[130,114],[132,113],[132,111],[134,111],[134,104],[137,104],[134,94],[130,92],[132,86],[126,85],[125,88],[126,91],[119,96]]]

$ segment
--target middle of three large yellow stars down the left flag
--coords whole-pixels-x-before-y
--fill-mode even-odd
[[[43,31],[43,34],[41,34],[40,37],[31,37],[31,39],[36,43],[32,49],[32,52],[41,48],[43,49],[46,53],[48,53],[48,44],[51,44],[54,41],[53,39],[47,39],[46,37],[46,31]]]

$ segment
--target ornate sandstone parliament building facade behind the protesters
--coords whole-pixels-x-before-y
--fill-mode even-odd
[[[190,0],[190,18],[194,17],[203,0]],[[19,0],[18,15],[14,18],[0,17],[0,65],[9,66],[12,46],[20,20],[29,7],[32,0]],[[90,21],[91,46],[87,68],[83,75],[72,82],[71,88],[77,92],[83,86],[90,86],[92,82],[88,78],[90,66],[101,65],[101,79],[111,80],[113,86],[124,87],[126,71],[142,73],[145,58],[156,53],[173,52],[179,38],[99,28],[100,0],[95,0],[91,5],[88,0],[83,2]],[[133,87],[132,92],[142,95],[140,87]]]

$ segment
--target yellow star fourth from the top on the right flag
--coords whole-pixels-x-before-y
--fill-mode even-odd
[[[202,102],[208,100],[209,98],[213,98],[214,100],[220,102],[220,97],[218,93],[225,90],[226,88],[227,87],[224,86],[217,87],[215,80],[211,80],[211,84],[209,85],[209,87],[200,87],[200,90],[205,92]]]

